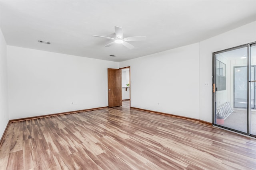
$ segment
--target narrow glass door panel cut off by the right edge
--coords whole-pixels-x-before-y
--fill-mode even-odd
[[[251,107],[250,110],[250,135],[256,137],[256,107],[255,107],[255,98],[256,98],[256,44],[252,44],[250,46],[250,58],[251,58],[251,65],[254,68],[253,74],[251,69],[251,76],[250,76],[250,89],[251,89],[251,104],[253,104],[253,107]],[[251,67],[251,68],[252,68]]]

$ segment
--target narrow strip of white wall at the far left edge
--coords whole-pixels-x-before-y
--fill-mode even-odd
[[[9,121],[6,42],[0,29],[0,138]]]

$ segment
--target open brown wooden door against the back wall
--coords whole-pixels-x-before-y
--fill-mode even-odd
[[[108,68],[108,107],[122,106],[122,71]]]

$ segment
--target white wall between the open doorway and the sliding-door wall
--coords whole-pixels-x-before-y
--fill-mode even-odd
[[[199,43],[120,63],[126,66],[131,107],[199,119]]]

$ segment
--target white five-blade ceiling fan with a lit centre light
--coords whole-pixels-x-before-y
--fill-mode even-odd
[[[123,29],[121,27],[115,26],[115,33],[116,33],[116,38],[111,38],[111,37],[104,37],[100,35],[92,35],[93,37],[101,37],[101,38],[106,38],[106,39],[112,39],[115,40],[104,47],[109,47],[111,45],[114,45],[115,43],[122,44],[128,49],[133,49],[134,46],[131,45],[130,43],[127,43],[126,41],[144,41],[146,40],[146,36],[136,36],[136,37],[127,37],[123,38]]]

